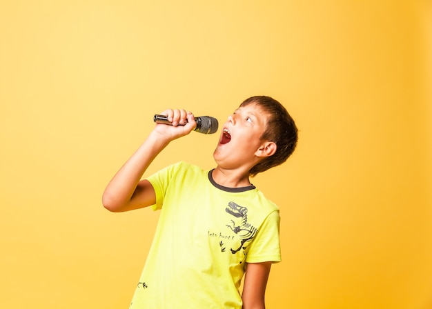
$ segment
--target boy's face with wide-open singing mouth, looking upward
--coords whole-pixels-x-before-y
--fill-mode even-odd
[[[255,166],[260,160],[257,150],[265,142],[259,138],[266,129],[267,119],[268,113],[255,103],[237,108],[224,123],[213,152],[218,166],[228,169]]]

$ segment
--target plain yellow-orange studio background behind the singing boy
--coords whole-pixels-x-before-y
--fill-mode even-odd
[[[1,1],[0,307],[128,308],[158,214],[108,212],[106,183],[153,114],[224,122],[266,94],[300,128],[253,179],[282,214],[268,308],[432,308],[431,9]],[[173,142],[149,173],[213,167],[217,135]]]

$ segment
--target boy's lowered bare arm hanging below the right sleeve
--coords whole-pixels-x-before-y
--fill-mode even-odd
[[[247,264],[242,293],[243,309],[266,308],[264,295],[270,268],[271,262]]]

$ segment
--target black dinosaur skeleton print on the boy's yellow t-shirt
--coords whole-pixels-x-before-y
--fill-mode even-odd
[[[237,235],[240,239],[238,248],[230,248],[233,255],[239,250],[246,249],[248,242],[252,241],[253,237],[257,234],[257,228],[248,223],[248,208],[239,206],[237,203],[230,201],[228,207],[225,209],[228,214],[237,218],[231,219],[231,223],[226,226]]]

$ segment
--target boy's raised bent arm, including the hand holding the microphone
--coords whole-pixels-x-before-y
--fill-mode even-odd
[[[115,174],[102,195],[106,209],[123,212],[155,203],[155,190],[149,181],[141,180],[142,175],[170,141],[189,134],[196,126],[193,114],[186,110],[166,110],[161,114],[166,114],[173,126],[157,123],[144,143]],[[182,126],[183,123],[186,124]]]

